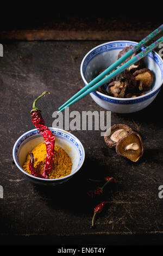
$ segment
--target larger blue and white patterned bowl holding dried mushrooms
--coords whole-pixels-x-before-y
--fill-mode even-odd
[[[98,45],[89,51],[82,60],[80,73],[85,85],[95,78],[99,71],[108,68],[117,59],[118,52],[129,45],[136,45],[134,41],[111,41]],[[149,53],[143,58],[145,66],[154,72],[154,84],[145,95],[134,98],[111,97],[99,92],[92,92],[92,99],[101,107],[115,113],[132,113],[147,107],[159,93],[163,83],[163,60],[156,52]]]

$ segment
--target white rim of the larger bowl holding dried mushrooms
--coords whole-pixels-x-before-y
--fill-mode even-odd
[[[83,64],[84,64],[84,61],[85,61],[86,57],[87,57],[92,51],[96,50],[96,48],[101,47],[101,46],[106,45],[106,44],[114,44],[114,43],[116,43],[116,42],[134,42],[135,44],[138,44],[138,43],[139,43],[139,42],[131,41],[131,40],[115,40],[115,41],[104,42],[103,44],[100,44],[100,45],[97,45],[97,46],[93,47],[89,52],[87,52],[87,53],[85,54],[85,56],[84,56],[84,58],[83,58],[83,60],[82,60],[82,63],[80,64],[80,75],[82,76],[82,79],[83,79],[83,81],[84,81],[85,84],[88,84],[88,82],[85,80],[85,77],[84,77],[84,75],[83,75]],[[163,59],[159,56],[159,54],[158,54],[157,52],[155,52],[155,51],[152,51],[152,52],[154,52],[154,53],[156,54],[156,56],[157,56],[159,59],[161,59],[161,62],[162,62],[162,64],[163,64]],[[159,85],[157,88],[151,90],[150,92],[148,92],[148,93],[146,93],[146,94],[144,94],[144,95],[137,96],[136,98],[135,98],[135,97],[130,97],[130,98],[112,97],[112,96],[109,96],[109,95],[100,93],[100,92],[98,92],[97,90],[95,90],[95,92],[92,92],[92,93],[94,93],[96,97],[98,97],[98,95],[101,95],[101,96],[103,96],[103,97],[106,97],[106,98],[108,98],[108,99],[115,100],[115,101],[116,101],[116,100],[117,100],[117,101],[134,101],[135,99],[136,99],[136,100],[143,99],[143,97],[146,97],[146,96],[149,96],[149,95],[153,94],[154,92],[156,92],[156,90],[159,90],[159,89],[160,89],[160,87],[162,86],[162,83],[163,83],[163,76],[162,76],[162,80],[161,80],[161,82],[160,82],[160,85]],[[96,94],[98,94],[98,95],[96,95]],[[104,100],[104,99],[103,99],[103,100]]]

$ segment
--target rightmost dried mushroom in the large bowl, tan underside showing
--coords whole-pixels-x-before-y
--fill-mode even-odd
[[[140,69],[136,70],[133,74],[135,76],[136,81],[139,81],[139,90],[150,90],[153,80],[154,74],[150,69]]]

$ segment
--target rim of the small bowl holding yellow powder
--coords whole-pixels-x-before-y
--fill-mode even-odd
[[[49,130],[55,130],[55,131],[61,131],[61,132],[67,132],[68,134],[70,134],[72,137],[74,137],[74,138],[79,142],[80,147],[81,147],[82,150],[83,150],[83,160],[82,160],[82,163],[80,164],[80,166],[77,167],[77,169],[76,169],[73,173],[70,173],[70,174],[68,174],[68,175],[66,175],[66,176],[64,176],[64,177],[57,178],[57,179],[44,179],[44,178],[39,178],[39,177],[33,176],[32,174],[29,174],[29,173],[27,173],[25,170],[22,169],[22,167],[21,167],[20,164],[17,162],[16,157],[15,157],[15,150],[16,150],[17,144],[18,144],[18,142],[19,142],[24,136],[26,136],[26,135],[27,135],[28,133],[30,133],[30,132],[38,131],[37,129],[32,129],[32,130],[29,130],[29,131],[23,133],[23,134],[16,140],[16,142],[15,142],[15,144],[14,144],[14,147],[13,147],[13,149],[12,149],[12,157],[13,157],[13,159],[14,159],[14,162],[15,162],[16,166],[18,167],[18,169],[21,170],[22,173],[24,173],[24,174],[26,174],[27,176],[30,176],[30,178],[33,178],[33,179],[36,179],[36,180],[52,182],[52,181],[60,181],[60,180],[64,180],[64,179],[70,178],[70,177],[73,176],[75,173],[77,173],[78,170],[83,166],[83,163],[84,163],[84,160],[85,160],[85,150],[84,150],[83,144],[82,144],[82,142],[79,141],[79,139],[78,139],[76,136],[72,135],[72,133],[70,133],[70,132],[68,132],[68,131],[65,131],[65,130],[60,129],[60,128],[57,128],[57,127],[48,127],[48,129],[49,129]],[[40,133],[40,134],[41,134],[41,133]],[[38,133],[38,135],[39,135],[39,133]],[[64,139],[64,138],[63,138],[63,139]]]

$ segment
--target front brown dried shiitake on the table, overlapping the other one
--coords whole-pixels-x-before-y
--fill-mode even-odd
[[[130,132],[116,144],[116,153],[137,162],[143,154],[143,144],[139,133]]]

